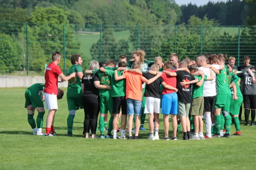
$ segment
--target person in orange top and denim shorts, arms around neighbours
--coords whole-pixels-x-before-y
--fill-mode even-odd
[[[133,69],[138,69],[140,71],[140,63],[134,62],[132,65]],[[135,114],[136,122],[135,122],[135,137],[134,139],[140,139],[139,130],[140,130],[140,115],[142,112],[142,82],[145,82],[147,85],[154,82],[158,77],[162,75],[161,72],[157,72],[157,75],[151,79],[146,79],[140,74],[133,72],[126,72],[122,76],[117,75],[117,71],[115,71],[115,80],[126,79],[126,102],[127,102],[127,116],[128,119],[128,132],[129,138],[132,137],[132,121]]]

